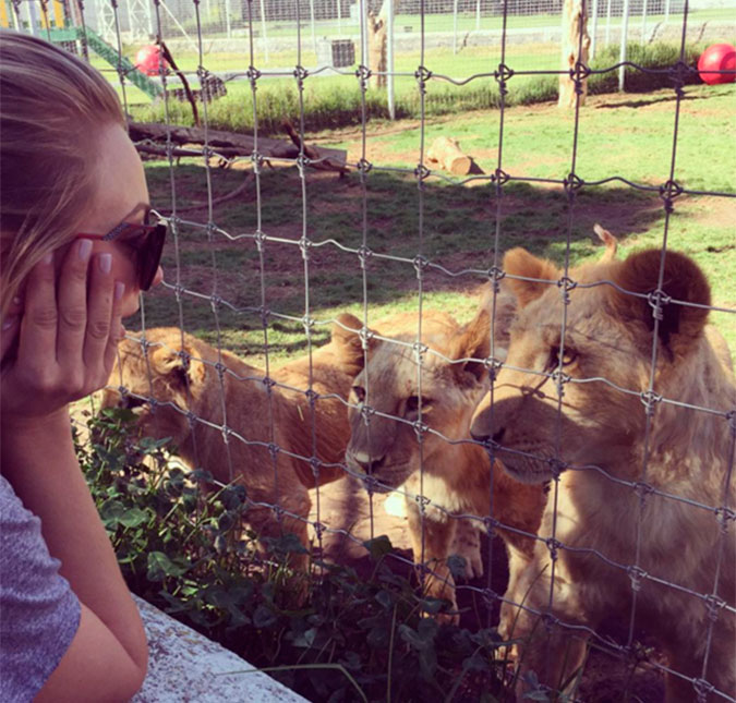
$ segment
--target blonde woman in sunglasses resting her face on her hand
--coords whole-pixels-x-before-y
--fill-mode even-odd
[[[166,229],[114,90],[0,32],[0,700],[141,687],[140,616],[87,490],[68,405],[102,387]]]

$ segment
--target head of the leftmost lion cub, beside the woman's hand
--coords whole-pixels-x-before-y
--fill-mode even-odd
[[[137,340],[120,342],[109,387],[102,391],[101,408],[129,408],[137,415],[142,436],[171,437],[173,444],[179,445],[190,433],[185,413],[200,396],[206,368],[201,362],[185,363],[180,354],[179,330],[150,329],[146,339],[147,354]],[[185,341],[184,351],[196,359],[190,342]],[[124,395],[121,387],[125,389]],[[150,399],[155,399],[153,404]]]

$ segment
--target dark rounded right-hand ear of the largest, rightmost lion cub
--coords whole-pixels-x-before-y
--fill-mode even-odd
[[[615,282],[625,291],[652,293],[657,287],[661,260],[660,250],[631,254],[616,269]],[[710,305],[710,286],[704,274],[691,258],[677,252],[667,252],[664,260],[662,290],[673,302],[661,306],[660,341],[671,354],[685,354],[702,334],[708,319],[708,308],[678,303]],[[638,319],[643,322],[650,330],[654,329],[654,310],[648,298],[630,295],[614,289],[612,302],[616,312],[623,317]]]

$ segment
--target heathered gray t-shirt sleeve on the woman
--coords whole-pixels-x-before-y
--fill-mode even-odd
[[[0,701],[41,689],[80,626],[80,602],[49,555],[40,520],[0,476]]]

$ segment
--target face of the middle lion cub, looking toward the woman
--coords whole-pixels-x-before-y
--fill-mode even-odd
[[[403,344],[379,341],[351,391],[348,463],[375,477],[386,492],[401,485],[421,461],[447,449],[447,439],[463,440],[472,411],[487,388],[487,316],[482,331],[459,330],[427,336],[421,376],[413,339]],[[457,328],[456,328],[457,329]],[[447,439],[445,439],[445,437]]]

